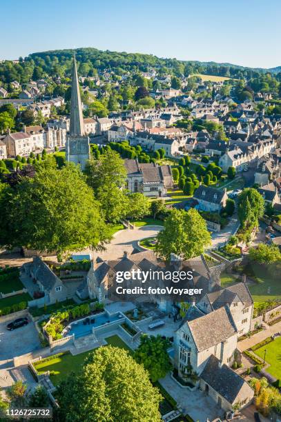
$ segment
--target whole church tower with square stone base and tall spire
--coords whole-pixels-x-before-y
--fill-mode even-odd
[[[90,159],[90,139],[85,136],[82,114],[77,66],[73,57],[70,130],[66,139],[66,160],[79,164],[84,170],[86,161]]]

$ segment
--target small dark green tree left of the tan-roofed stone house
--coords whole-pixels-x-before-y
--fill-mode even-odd
[[[142,335],[134,358],[148,370],[151,381],[155,382],[172,369],[168,348],[170,343],[158,334],[157,336]]]

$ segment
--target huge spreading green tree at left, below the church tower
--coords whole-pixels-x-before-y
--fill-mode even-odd
[[[81,171],[72,163],[61,170],[43,163],[34,178],[14,188],[0,185],[1,245],[48,252],[100,249],[110,235]]]

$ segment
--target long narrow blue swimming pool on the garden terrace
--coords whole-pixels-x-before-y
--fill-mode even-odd
[[[88,316],[88,322],[84,324],[85,318],[79,319],[79,321],[72,322],[68,325],[67,332],[64,332],[65,336],[70,336],[75,334],[75,338],[86,336],[93,332],[93,327],[100,327],[101,325],[106,326],[108,323],[113,321],[118,321],[119,319],[124,318],[124,316],[117,312],[117,314],[108,315],[107,312],[102,312],[101,314],[95,314]]]

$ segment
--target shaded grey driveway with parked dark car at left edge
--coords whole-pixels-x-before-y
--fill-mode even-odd
[[[26,316],[23,314],[23,316]],[[17,315],[8,315],[0,319],[0,361],[12,359],[14,356],[21,356],[39,349],[39,337],[35,328],[35,323],[30,321],[25,327],[17,328],[17,330],[8,331],[6,325],[14,319],[19,318]]]

